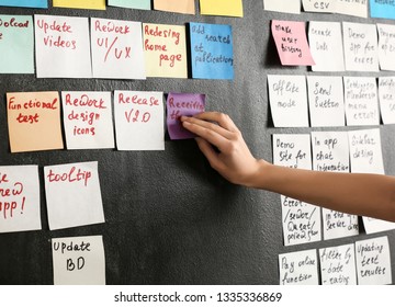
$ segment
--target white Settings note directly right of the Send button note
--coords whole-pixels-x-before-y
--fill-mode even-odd
[[[348,126],[380,125],[377,83],[374,77],[343,77]]]

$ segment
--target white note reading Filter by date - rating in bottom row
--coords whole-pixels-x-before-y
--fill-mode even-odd
[[[323,285],[357,285],[354,245],[319,250]]]

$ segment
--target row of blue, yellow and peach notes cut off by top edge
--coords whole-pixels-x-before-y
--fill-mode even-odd
[[[105,10],[110,7],[151,10],[151,0],[53,0],[54,8]],[[47,9],[48,0],[0,0],[3,7]],[[200,0],[201,14],[239,16],[242,13],[242,0]],[[195,14],[195,0],[154,0],[154,9],[165,12]]]

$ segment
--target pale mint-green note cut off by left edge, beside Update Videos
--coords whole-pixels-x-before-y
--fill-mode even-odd
[[[0,73],[34,73],[33,18],[0,15]]]

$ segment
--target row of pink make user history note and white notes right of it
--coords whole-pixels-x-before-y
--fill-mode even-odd
[[[351,22],[272,21],[282,65],[312,66],[313,71],[395,70],[395,25]],[[379,37],[377,37],[379,33]],[[330,59],[330,60],[328,60]]]

